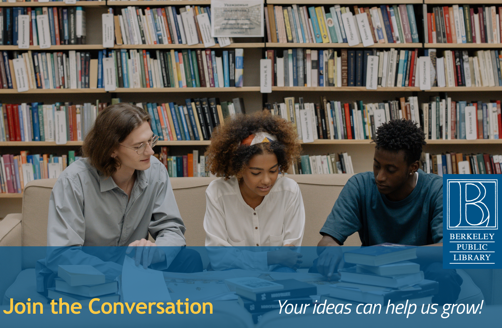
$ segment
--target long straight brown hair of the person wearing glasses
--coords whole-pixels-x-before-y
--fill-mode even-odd
[[[120,161],[111,154],[118,144],[143,122],[152,117],[142,108],[120,102],[103,109],[85,136],[82,152],[102,175],[110,177],[120,168]]]

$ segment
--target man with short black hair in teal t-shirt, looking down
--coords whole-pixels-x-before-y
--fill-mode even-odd
[[[382,124],[373,141],[373,174],[360,173],[347,181],[318,246],[341,246],[356,231],[362,246],[442,246],[443,181],[419,169],[424,132],[411,120],[396,119]],[[318,253],[311,272],[329,278],[344,265],[338,247],[319,248]],[[439,282],[434,302],[456,301],[462,278],[455,269],[442,269],[442,248],[419,247],[417,256],[425,277]]]

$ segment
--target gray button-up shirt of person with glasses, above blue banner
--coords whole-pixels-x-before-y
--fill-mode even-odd
[[[148,232],[158,246],[185,246],[167,170],[156,157],[150,161],[136,171],[130,199],[86,158],[73,162],[52,189],[47,246],[128,246]]]

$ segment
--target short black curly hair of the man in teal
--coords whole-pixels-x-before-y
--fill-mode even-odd
[[[372,142],[376,143],[376,148],[396,150],[396,152],[403,149],[408,165],[420,160],[422,146],[426,144],[422,129],[415,122],[406,119],[394,119],[382,124],[376,130]]]

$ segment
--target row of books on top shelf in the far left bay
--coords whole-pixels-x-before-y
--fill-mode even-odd
[[[49,45],[84,45],[85,10],[82,7],[4,7],[0,8],[0,45],[18,45],[19,15],[28,15],[30,24],[30,46],[40,45],[44,40],[45,28],[49,29]],[[46,15],[37,22],[37,16]],[[47,25],[46,25],[47,24]]]

